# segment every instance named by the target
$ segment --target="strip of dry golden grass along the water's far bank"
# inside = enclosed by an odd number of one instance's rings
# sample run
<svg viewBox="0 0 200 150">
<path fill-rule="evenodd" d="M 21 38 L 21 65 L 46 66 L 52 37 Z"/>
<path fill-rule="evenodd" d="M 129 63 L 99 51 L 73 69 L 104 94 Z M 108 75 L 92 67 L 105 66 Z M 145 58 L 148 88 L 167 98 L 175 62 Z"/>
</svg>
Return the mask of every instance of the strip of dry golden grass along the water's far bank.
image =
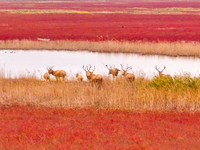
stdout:
<svg viewBox="0 0 200 150">
<path fill-rule="evenodd" d="M 46 40 L 46 41 L 45 41 Z M 199 42 L 127 42 L 127 41 L 48 41 L 8 40 L 0 41 L 0 49 L 23 50 L 87 50 L 93 52 L 122 52 L 139 54 L 156 54 L 168 56 L 200 57 Z"/>
</svg>

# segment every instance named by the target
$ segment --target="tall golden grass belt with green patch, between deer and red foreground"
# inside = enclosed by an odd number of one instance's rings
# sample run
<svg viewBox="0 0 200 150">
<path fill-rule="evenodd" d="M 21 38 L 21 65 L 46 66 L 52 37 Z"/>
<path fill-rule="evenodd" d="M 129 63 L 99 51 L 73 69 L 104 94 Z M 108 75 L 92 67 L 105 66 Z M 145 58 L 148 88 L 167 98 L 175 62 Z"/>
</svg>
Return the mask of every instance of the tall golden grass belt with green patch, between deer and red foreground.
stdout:
<svg viewBox="0 0 200 150">
<path fill-rule="evenodd" d="M 50 108 L 95 108 L 128 111 L 200 110 L 200 77 L 139 77 L 127 82 L 104 77 L 102 86 L 69 80 L 46 82 L 34 77 L 0 78 L 0 104 Z"/>
</svg>

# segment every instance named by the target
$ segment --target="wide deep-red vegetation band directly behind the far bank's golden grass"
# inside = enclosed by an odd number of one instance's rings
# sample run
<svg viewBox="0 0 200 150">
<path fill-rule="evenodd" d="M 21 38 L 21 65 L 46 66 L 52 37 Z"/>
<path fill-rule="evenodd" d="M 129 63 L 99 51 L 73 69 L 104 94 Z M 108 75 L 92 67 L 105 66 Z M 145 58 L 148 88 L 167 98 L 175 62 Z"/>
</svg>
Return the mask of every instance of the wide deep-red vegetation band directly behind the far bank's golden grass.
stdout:
<svg viewBox="0 0 200 150">
<path fill-rule="evenodd" d="M 198 15 L 0 14 L 0 40 L 199 41 Z"/>
</svg>

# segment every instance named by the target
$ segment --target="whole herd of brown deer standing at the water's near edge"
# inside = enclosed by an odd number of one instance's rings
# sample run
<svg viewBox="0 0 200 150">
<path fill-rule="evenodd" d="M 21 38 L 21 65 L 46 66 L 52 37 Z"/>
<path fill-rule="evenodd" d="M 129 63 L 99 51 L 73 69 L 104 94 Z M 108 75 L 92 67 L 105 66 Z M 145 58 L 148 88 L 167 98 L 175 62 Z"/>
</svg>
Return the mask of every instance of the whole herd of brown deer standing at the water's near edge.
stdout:
<svg viewBox="0 0 200 150">
<path fill-rule="evenodd" d="M 124 67 L 122 64 L 121 65 L 121 70 L 116 68 L 115 66 L 112 65 L 105 65 L 108 69 L 108 75 L 112 75 L 113 80 L 117 78 L 118 74 L 120 71 L 122 71 L 122 76 L 124 76 L 124 78 L 128 81 L 128 82 L 133 82 L 135 81 L 135 75 L 133 73 L 128 73 L 128 70 L 131 70 L 132 67 L 131 66 L 126 66 Z M 100 74 L 94 74 L 95 71 L 95 66 L 92 67 L 91 65 L 88 66 L 83 66 L 82 67 L 83 70 L 86 73 L 86 77 L 87 80 L 91 83 L 98 83 L 98 84 L 102 84 L 103 82 L 103 76 Z M 157 68 L 157 66 L 155 66 L 155 69 L 158 71 L 159 73 L 159 77 L 167 77 L 167 78 L 172 78 L 171 75 L 167 75 L 167 74 L 163 74 L 163 71 L 166 69 L 166 67 L 164 66 L 164 68 L 162 70 L 159 70 L 159 68 Z M 44 79 L 46 81 L 50 81 L 50 75 L 53 75 L 56 78 L 56 81 L 65 81 L 65 78 L 67 77 L 67 73 L 64 70 L 53 70 L 53 67 L 47 67 L 47 71 L 44 74 Z M 76 74 L 76 78 L 77 81 L 83 81 L 83 76 L 80 75 L 79 73 Z"/>
</svg>

